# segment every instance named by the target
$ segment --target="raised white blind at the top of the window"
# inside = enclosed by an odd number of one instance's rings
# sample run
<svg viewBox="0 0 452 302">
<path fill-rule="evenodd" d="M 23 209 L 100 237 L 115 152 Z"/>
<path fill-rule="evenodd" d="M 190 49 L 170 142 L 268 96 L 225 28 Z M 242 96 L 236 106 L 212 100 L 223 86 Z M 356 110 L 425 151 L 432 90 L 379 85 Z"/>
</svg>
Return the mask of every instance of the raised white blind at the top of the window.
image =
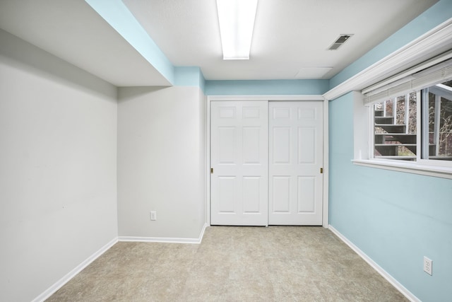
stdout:
<svg viewBox="0 0 452 302">
<path fill-rule="evenodd" d="M 430 66 L 427 69 L 415 72 L 384 86 L 376 87 L 373 90 L 369 90 L 369 88 L 364 89 L 362 91 L 364 94 L 363 102 L 364 105 L 369 106 L 450 79 L 452 79 L 452 59 Z"/>
</svg>

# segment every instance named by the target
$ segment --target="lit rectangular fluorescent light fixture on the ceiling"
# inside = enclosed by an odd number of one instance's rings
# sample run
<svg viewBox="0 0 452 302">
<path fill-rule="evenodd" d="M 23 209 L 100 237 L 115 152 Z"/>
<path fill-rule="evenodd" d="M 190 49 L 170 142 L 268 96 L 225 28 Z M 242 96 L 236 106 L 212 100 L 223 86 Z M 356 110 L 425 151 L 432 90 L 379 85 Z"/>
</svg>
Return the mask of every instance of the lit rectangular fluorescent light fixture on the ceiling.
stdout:
<svg viewBox="0 0 452 302">
<path fill-rule="evenodd" d="M 249 59 L 258 0 L 217 0 L 223 59 Z"/>
</svg>

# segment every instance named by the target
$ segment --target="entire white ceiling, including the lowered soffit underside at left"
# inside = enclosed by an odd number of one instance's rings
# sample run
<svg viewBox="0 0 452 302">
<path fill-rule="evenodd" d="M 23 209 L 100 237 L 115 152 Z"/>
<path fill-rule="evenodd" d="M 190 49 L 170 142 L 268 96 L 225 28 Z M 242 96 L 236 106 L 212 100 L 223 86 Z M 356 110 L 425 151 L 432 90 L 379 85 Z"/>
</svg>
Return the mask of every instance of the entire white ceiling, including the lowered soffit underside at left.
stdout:
<svg viewBox="0 0 452 302">
<path fill-rule="evenodd" d="M 174 66 L 207 80 L 331 79 L 436 0 L 259 0 L 251 59 L 223 61 L 215 0 L 123 0 Z M 116 86 L 169 81 L 83 0 L 0 0 L 0 28 Z M 327 48 L 353 34 L 339 50 Z"/>
</svg>

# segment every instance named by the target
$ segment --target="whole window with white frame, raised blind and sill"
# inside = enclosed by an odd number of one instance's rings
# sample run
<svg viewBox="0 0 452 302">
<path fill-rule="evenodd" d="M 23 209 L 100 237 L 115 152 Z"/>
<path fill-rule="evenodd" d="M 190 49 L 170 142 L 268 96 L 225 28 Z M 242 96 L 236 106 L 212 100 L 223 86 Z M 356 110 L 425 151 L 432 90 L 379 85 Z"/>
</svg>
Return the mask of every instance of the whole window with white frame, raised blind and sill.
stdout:
<svg viewBox="0 0 452 302">
<path fill-rule="evenodd" d="M 355 163 L 452 178 L 452 59 L 437 62 L 362 91 L 369 159 Z"/>
</svg>

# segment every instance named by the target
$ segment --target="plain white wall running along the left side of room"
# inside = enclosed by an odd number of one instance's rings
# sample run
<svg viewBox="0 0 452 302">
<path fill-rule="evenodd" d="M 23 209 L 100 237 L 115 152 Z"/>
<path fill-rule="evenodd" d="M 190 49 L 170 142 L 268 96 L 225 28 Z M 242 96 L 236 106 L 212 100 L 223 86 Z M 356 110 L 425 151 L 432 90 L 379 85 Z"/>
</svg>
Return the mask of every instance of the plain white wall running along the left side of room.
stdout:
<svg viewBox="0 0 452 302">
<path fill-rule="evenodd" d="M 117 88 L 0 30 L 0 301 L 117 237 Z"/>
</svg>

